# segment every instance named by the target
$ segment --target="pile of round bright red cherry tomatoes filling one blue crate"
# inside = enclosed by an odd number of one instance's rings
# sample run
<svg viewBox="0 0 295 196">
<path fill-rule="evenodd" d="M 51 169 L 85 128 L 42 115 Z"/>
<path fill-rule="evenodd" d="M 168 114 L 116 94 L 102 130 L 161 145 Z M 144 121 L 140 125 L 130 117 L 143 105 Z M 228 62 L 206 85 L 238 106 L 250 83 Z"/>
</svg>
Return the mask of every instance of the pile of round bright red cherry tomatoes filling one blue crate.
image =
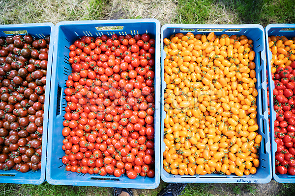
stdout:
<svg viewBox="0 0 295 196">
<path fill-rule="evenodd" d="M 154 176 L 154 45 L 148 34 L 113 34 L 69 47 L 66 171 Z"/>
</svg>

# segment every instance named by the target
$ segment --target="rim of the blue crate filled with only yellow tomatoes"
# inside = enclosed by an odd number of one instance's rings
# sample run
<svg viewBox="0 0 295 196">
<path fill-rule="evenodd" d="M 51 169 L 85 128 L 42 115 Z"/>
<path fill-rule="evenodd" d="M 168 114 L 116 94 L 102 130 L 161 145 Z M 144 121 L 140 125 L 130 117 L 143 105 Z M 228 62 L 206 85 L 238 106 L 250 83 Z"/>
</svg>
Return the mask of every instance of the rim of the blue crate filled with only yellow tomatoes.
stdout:
<svg viewBox="0 0 295 196">
<path fill-rule="evenodd" d="M 165 51 L 163 50 L 163 39 L 164 39 L 164 30 L 167 29 L 167 28 L 175 28 L 175 29 L 181 29 L 181 28 L 187 28 L 187 29 L 196 29 L 196 28 L 199 28 L 199 29 L 202 29 L 202 31 L 195 31 L 195 30 L 180 30 L 180 32 L 192 32 L 192 33 L 201 33 L 201 32 L 210 32 L 209 29 L 224 29 L 224 31 L 214 31 L 215 33 L 226 33 L 226 34 L 230 34 L 229 31 L 227 31 L 228 29 L 245 29 L 245 28 L 257 28 L 261 31 L 262 33 L 262 38 L 265 38 L 265 31 L 264 31 L 264 28 L 262 25 L 188 25 L 188 24 L 166 24 L 166 25 L 163 25 L 162 28 L 161 28 L 161 63 L 163 63 L 164 59 L 163 59 L 163 56 L 165 56 Z M 208 31 L 203 31 L 203 29 L 208 29 Z M 239 32 L 239 31 L 233 31 L 233 34 L 236 34 L 236 32 Z M 264 40 L 262 40 L 262 45 L 263 45 L 263 49 L 265 50 L 265 42 Z M 264 58 L 266 59 L 266 53 L 263 51 L 261 52 L 261 58 Z M 163 77 L 164 77 L 164 67 L 162 66 L 161 67 L 161 79 L 162 79 L 162 88 L 161 88 L 161 98 L 163 97 L 162 93 L 164 92 L 164 89 L 166 88 L 166 82 L 164 81 Z M 266 75 L 265 75 L 265 78 L 266 78 Z M 265 84 L 264 86 L 266 87 L 266 81 L 265 81 Z M 163 101 L 163 100 L 161 100 Z M 164 119 L 166 117 L 166 112 L 164 111 L 164 106 L 163 104 L 161 104 L 161 112 L 162 112 L 162 118 Z M 265 113 L 263 114 L 264 117 L 266 117 L 266 111 Z M 267 118 L 266 118 L 267 119 Z M 161 121 L 162 122 L 162 121 Z M 267 127 L 268 127 L 268 123 L 267 123 Z M 161 124 L 161 129 L 164 128 L 164 125 L 163 123 Z M 266 138 L 266 153 L 269 154 L 269 157 L 268 157 L 268 162 L 270 163 L 270 147 L 269 147 L 269 144 L 270 144 L 270 141 L 269 141 L 269 133 L 268 131 L 266 131 L 266 135 L 267 138 Z M 161 141 L 163 141 L 164 139 L 164 136 L 163 136 L 163 133 L 161 131 Z M 267 145 L 268 144 L 268 145 Z M 218 180 L 220 179 L 223 179 L 223 181 L 225 183 L 268 183 L 271 178 L 272 178 L 272 175 L 271 175 L 271 166 L 270 166 L 270 170 L 268 171 L 268 175 L 266 178 L 264 178 L 263 180 L 259 180 L 257 181 L 255 178 L 252 178 L 252 181 L 251 181 L 251 178 L 243 178 L 243 177 L 233 177 L 233 178 L 224 178 L 224 177 L 218 177 L 220 175 L 216 175 L 216 177 L 201 177 L 199 178 L 198 176 L 199 175 L 195 175 L 195 176 L 187 176 L 185 178 L 180 178 L 180 177 L 177 177 L 177 175 L 172 175 L 172 174 L 169 174 L 170 176 L 174 176 L 174 177 L 167 177 L 167 172 L 163 169 L 162 165 L 163 165 L 163 150 L 165 146 L 164 144 L 161 143 L 161 154 L 160 154 L 160 158 L 161 158 L 161 166 L 160 166 L 160 173 L 161 173 L 161 178 L 163 181 L 165 182 L 197 182 L 197 183 L 205 183 L 205 182 L 211 182 L 211 183 L 216 183 L 216 182 L 220 182 Z M 271 164 L 271 163 L 270 163 Z M 165 173 L 165 174 L 164 174 Z M 197 177 L 196 177 L 197 176 Z M 249 181 L 250 180 L 250 181 Z M 256 180 L 256 181 L 255 181 Z"/>
</svg>

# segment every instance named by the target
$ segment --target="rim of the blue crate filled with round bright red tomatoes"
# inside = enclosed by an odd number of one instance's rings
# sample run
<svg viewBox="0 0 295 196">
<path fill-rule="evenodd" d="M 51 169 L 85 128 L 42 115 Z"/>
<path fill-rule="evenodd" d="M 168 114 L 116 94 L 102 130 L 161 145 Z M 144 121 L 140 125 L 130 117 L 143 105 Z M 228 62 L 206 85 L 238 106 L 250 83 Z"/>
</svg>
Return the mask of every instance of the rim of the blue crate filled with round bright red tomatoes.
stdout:
<svg viewBox="0 0 295 196">
<path fill-rule="evenodd" d="M 156 55 L 155 57 L 155 72 L 156 71 L 159 71 L 160 70 L 160 55 L 159 55 L 159 52 L 160 52 L 160 23 L 158 20 L 156 19 L 130 19 L 130 20 L 105 20 L 105 21 L 75 21 L 75 22 L 60 22 L 56 25 L 56 33 L 55 33 L 55 43 L 54 43 L 54 47 L 56 48 L 56 50 L 54 50 L 54 57 L 56 58 L 58 56 L 58 46 L 59 46 L 59 29 L 62 25 L 97 25 L 97 26 L 104 26 L 104 24 L 109 24 L 110 26 L 112 26 L 112 24 L 114 24 L 113 26 L 116 26 L 118 24 L 121 24 L 121 25 L 128 25 L 128 24 L 134 24 L 134 23 L 154 23 L 155 24 L 155 40 L 156 40 L 156 53 L 158 53 L 158 55 Z M 116 25 L 115 25 L 116 24 Z M 106 31 L 113 31 L 113 30 L 106 30 Z M 119 30 L 121 31 L 121 29 Z M 78 35 L 77 35 L 78 36 Z M 54 62 L 53 62 L 53 69 L 55 69 L 57 67 L 57 63 L 58 63 L 58 59 L 54 59 Z M 159 73 L 159 72 L 158 72 Z M 54 70 L 53 73 L 52 73 L 52 85 L 51 85 L 51 90 L 54 90 L 56 91 L 56 88 L 57 88 L 57 71 Z M 155 75 L 155 81 L 157 82 L 160 82 L 160 75 L 158 75 L 156 77 Z M 156 90 L 157 89 L 157 90 Z M 52 93 L 51 97 L 54 96 L 55 93 Z M 155 94 L 159 94 L 158 96 L 160 96 L 160 89 L 159 87 L 156 87 L 155 86 Z M 156 95 L 155 95 L 156 96 Z M 51 122 L 53 121 L 53 113 L 54 113 L 54 109 L 52 107 L 52 105 L 54 104 L 54 101 L 51 101 L 50 103 L 50 118 L 49 118 L 49 133 L 48 133 L 48 148 L 47 148 L 47 155 L 48 157 L 51 157 L 52 155 L 52 151 L 51 151 L 51 148 L 53 147 L 53 143 L 52 143 L 52 137 L 53 137 L 53 132 L 51 131 L 52 129 L 52 124 Z M 157 106 L 157 103 L 155 103 L 155 106 Z M 158 106 L 160 108 L 160 106 Z M 160 115 L 160 114 L 159 114 Z M 155 120 L 156 121 L 156 120 Z M 159 122 L 160 124 L 160 122 Z M 159 125 L 160 126 L 160 125 Z M 156 127 L 155 128 L 155 138 L 157 137 L 158 141 L 160 142 L 160 131 L 158 131 L 156 133 Z M 158 143 L 159 143 L 158 142 Z M 160 147 L 160 143 L 158 144 L 158 146 Z M 158 156 L 160 155 L 159 152 L 156 152 L 155 150 L 155 163 L 159 162 L 159 157 L 156 156 L 156 154 L 158 154 Z M 158 163 L 159 164 L 159 163 Z M 129 188 L 144 188 L 144 189 L 153 189 L 153 188 L 156 188 L 159 183 L 160 183 L 160 168 L 158 168 L 158 174 L 156 173 L 156 164 L 155 164 L 155 183 L 153 184 L 147 184 L 147 185 L 143 185 L 142 187 L 140 187 L 140 185 L 132 185 L 130 182 L 127 183 L 127 182 L 122 182 L 122 181 L 115 181 L 113 182 L 114 183 L 117 183 L 116 185 L 112 185 L 112 182 L 110 181 L 107 181 L 107 180 L 102 180 L 102 181 L 99 181 L 99 180 L 96 180 L 96 182 L 91 182 L 89 183 L 89 181 L 87 181 L 87 183 L 79 183 L 79 182 L 75 182 L 75 181 L 71 181 L 71 180 L 55 180 L 53 178 L 51 178 L 51 166 L 52 165 L 52 161 L 50 158 L 48 158 L 47 160 L 47 170 L 46 170 L 46 180 L 50 183 L 50 184 L 59 184 L 59 185 L 78 185 L 78 186 L 117 186 L 117 187 L 129 187 Z M 95 176 L 95 175 L 90 175 L 88 174 L 90 177 L 91 176 Z M 104 178 L 104 176 L 100 176 L 100 178 Z M 109 177 L 109 176 L 108 176 Z M 111 177 L 111 178 L 117 178 L 117 177 Z M 117 178 L 118 179 L 118 178 Z M 136 181 L 136 179 L 135 179 Z M 102 184 L 104 183 L 104 184 Z"/>
</svg>

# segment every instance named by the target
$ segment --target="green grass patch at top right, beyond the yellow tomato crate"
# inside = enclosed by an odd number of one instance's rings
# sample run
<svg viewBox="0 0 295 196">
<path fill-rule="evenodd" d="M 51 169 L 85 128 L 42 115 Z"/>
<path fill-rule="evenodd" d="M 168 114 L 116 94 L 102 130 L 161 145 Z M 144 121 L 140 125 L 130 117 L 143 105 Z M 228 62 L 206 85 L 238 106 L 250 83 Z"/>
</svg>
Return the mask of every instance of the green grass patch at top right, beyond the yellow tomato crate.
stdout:
<svg viewBox="0 0 295 196">
<path fill-rule="evenodd" d="M 178 0 L 175 23 L 295 23 L 294 0 Z"/>
</svg>

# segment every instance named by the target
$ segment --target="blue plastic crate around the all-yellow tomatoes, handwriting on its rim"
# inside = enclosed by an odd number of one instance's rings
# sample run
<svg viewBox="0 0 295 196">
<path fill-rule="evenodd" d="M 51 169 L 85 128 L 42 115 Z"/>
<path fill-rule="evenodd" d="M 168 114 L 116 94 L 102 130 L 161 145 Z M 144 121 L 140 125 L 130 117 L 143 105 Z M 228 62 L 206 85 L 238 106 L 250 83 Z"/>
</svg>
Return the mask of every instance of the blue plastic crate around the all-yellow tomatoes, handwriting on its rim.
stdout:
<svg viewBox="0 0 295 196">
<path fill-rule="evenodd" d="M 211 30 L 212 29 L 212 30 Z M 257 169 L 255 174 L 242 177 L 232 175 L 220 175 L 220 174 L 206 174 L 206 175 L 173 175 L 169 174 L 163 169 L 163 152 L 165 151 L 165 143 L 163 131 L 161 132 L 161 178 L 165 182 L 188 182 L 188 183 L 268 183 L 271 180 L 271 165 L 270 165 L 270 141 L 268 131 L 268 115 L 267 115 L 267 91 L 266 91 L 266 54 L 265 54 L 265 33 L 261 25 L 163 25 L 161 30 L 161 46 L 162 55 L 161 63 L 164 64 L 165 51 L 163 49 L 163 39 L 169 38 L 176 33 L 186 34 L 192 32 L 193 34 L 208 34 L 213 31 L 215 35 L 245 35 L 248 39 L 253 40 L 254 51 L 256 57 L 254 62 L 256 64 L 256 89 L 258 91 L 257 100 L 257 123 L 259 125 L 258 133 L 263 136 L 261 147 L 259 148 L 259 161 L 260 168 Z M 166 117 L 164 111 L 164 90 L 166 88 L 166 82 L 164 81 L 164 66 L 161 67 L 161 111 L 162 120 Z M 164 129 L 164 124 L 161 124 L 161 130 Z"/>
</svg>

